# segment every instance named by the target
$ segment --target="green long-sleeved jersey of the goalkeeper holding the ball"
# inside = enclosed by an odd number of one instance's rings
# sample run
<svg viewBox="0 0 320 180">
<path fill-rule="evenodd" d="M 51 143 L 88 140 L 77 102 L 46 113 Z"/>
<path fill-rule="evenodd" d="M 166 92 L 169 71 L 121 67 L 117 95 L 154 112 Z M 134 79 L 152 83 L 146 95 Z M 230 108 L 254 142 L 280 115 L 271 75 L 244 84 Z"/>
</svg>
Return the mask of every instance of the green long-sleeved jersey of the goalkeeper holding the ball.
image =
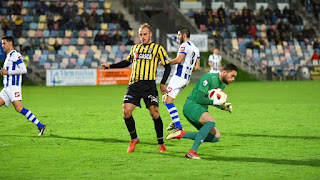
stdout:
<svg viewBox="0 0 320 180">
<path fill-rule="evenodd" d="M 224 89 L 225 87 L 226 84 L 219 79 L 219 73 L 207 73 L 197 81 L 188 99 L 208 109 L 208 105 L 213 104 L 213 100 L 207 97 L 208 91 L 215 88 Z"/>
</svg>

